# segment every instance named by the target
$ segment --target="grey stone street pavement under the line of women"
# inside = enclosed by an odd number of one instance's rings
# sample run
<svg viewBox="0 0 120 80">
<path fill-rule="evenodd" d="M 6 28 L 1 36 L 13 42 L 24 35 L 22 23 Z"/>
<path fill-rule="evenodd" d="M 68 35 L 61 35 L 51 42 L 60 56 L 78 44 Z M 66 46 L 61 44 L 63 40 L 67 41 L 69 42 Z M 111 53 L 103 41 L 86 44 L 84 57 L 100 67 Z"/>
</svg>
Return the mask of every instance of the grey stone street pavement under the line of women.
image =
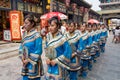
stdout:
<svg viewBox="0 0 120 80">
<path fill-rule="evenodd" d="M 17 51 L 14 53 L 18 54 Z M 45 57 L 42 55 L 45 65 Z M 88 72 L 87 78 L 81 80 L 120 80 L 120 43 L 112 43 L 110 35 L 105 53 L 93 64 L 92 71 Z M 0 60 L 0 80 L 21 80 L 21 61 L 18 56 Z M 46 72 L 46 65 L 45 65 Z M 44 80 L 42 78 L 42 80 Z"/>
</svg>

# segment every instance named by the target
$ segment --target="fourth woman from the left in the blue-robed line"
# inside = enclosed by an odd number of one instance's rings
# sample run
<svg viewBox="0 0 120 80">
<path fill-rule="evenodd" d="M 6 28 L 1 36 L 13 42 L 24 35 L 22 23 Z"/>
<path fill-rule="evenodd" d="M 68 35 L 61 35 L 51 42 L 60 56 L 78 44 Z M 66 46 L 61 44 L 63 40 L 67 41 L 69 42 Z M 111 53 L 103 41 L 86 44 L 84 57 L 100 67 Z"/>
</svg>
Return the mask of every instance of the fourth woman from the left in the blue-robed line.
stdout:
<svg viewBox="0 0 120 80">
<path fill-rule="evenodd" d="M 90 54 L 88 53 L 86 46 L 88 42 L 88 32 L 86 31 L 86 24 L 81 26 L 81 38 L 79 49 L 81 51 L 81 66 L 82 66 L 82 77 L 87 77 L 87 68 L 89 64 Z"/>
</svg>

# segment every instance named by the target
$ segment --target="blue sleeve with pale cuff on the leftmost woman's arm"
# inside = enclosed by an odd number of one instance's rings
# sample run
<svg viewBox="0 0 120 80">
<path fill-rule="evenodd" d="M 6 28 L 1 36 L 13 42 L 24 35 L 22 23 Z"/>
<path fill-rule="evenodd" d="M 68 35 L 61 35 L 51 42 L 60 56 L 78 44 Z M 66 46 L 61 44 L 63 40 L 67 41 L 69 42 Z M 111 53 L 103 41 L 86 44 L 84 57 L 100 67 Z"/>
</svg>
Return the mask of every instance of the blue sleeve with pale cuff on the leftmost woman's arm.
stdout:
<svg viewBox="0 0 120 80">
<path fill-rule="evenodd" d="M 42 54 L 42 38 L 40 37 L 39 33 L 35 36 L 35 49 L 33 53 L 30 53 L 30 59 L 32 61 L 38 61 L 40 55 Z"/>
</svg>

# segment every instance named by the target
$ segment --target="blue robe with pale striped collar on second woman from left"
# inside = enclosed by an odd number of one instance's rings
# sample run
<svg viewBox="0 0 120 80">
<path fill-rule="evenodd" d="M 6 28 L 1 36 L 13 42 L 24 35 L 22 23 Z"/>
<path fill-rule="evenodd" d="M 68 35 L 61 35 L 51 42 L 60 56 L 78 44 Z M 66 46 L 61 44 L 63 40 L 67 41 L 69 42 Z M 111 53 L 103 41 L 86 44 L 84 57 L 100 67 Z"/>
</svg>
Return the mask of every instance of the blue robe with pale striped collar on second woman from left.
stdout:
<svg viewBox="0 0 120 80">
<path fill-rule="evenodd" d="M 51 33 L 47 34 L 46 57 L 56 62 L 54 66 L 48 65 L 47 80 L 63 80 L 63 69 L 68 69 L 64 63 L 70 62 L 71 54 L 71 47 L 65 36 L 61 33 L 57 33 L 54 37 Z"/>
</svg>

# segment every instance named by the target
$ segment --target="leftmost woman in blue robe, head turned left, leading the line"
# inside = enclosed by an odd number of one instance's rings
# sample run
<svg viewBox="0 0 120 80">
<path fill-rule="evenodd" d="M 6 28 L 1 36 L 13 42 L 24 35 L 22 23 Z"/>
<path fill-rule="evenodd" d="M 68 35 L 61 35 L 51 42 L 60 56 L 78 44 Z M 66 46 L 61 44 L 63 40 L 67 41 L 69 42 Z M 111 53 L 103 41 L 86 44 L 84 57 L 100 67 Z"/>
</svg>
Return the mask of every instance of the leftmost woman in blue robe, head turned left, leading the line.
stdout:
<svg viewBox="0 0 120 80">
<path fill-rule="evenodd" d="M 24 19 L 24 29 L 26 34 L 23 36 L 19 48 L 20 58 L 22 60 L 22 80 L 40 80 L 43 75 L 43 66 L 41 60 L 42 38 L 35 28 L 36 23 L 32 14 Z"/>
</svg>

